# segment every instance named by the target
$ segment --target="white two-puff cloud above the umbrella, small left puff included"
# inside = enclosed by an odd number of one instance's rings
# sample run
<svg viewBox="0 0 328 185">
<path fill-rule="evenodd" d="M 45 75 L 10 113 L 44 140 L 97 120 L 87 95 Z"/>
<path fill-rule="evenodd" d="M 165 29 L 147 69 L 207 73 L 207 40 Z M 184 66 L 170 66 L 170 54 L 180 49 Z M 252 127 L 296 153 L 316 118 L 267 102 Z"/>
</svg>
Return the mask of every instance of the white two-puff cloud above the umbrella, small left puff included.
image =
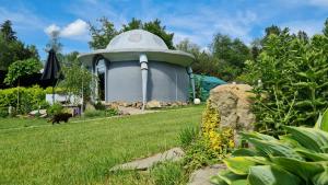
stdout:
<svg viewBox="0 0 328 185">
<path fill-rule="evenodd" d="M 85 21 L 78 19 L 74 22 L 59 27 L 56 24 L 51 24 L 47 26 L 44 31 L 47 35 L 51 35 L 54 32 L 59 32 L 59 36 L 70 39 L 80 39 L 87 41 L 89 39 L 89 25 Z"/>
</svg>

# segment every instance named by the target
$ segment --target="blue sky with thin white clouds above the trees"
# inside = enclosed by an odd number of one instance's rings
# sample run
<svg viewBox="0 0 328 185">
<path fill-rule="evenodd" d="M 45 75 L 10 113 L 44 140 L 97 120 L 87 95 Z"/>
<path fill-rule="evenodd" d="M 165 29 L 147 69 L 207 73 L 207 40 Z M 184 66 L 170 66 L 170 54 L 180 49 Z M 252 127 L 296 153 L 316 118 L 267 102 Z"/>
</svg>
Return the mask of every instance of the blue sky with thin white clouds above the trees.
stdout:
<svg viewBox="0 0 328 185">
<path fill-rule="evenodd" d="M 11 20 L 17 37 L 36 45 L 42 59 L 49 32 L 60 32 L 62 53 L 87 53 L 89 23 L 106 16 L 116 28 L 132 18 L 160 19 L 174 43 L 188 38 L 207 49 L 216 33 L 246 44 L 274 24 L 320 33 L 328 18 L 328 0 L 0 0 L 0 23 Z"/>
</svg>

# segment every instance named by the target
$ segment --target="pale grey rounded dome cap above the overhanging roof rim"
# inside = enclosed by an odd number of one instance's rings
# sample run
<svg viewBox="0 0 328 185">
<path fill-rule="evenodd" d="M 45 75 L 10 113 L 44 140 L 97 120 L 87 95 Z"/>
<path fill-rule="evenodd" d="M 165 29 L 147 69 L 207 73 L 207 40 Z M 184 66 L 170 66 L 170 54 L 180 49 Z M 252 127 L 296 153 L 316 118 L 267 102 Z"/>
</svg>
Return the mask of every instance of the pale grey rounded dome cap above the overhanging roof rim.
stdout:
<svg viewBox="0 0 328 185">
<path fill-rule="evenodd" d="M 164 41 L 150 32 L 132 30 L 115 36 L 106 47 L 107 50 L 121 49 L 168 49 Z"/>
</svg>

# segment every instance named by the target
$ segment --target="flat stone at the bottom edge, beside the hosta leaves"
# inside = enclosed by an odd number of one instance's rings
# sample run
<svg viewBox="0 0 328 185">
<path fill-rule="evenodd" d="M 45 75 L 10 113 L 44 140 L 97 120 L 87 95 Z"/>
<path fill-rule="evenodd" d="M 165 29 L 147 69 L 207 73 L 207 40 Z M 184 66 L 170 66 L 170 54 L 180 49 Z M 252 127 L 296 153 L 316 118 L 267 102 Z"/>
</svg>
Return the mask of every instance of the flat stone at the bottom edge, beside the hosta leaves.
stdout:
<svg viewBox="0 0 328 185">
<path fill-rule="evenodd" d="M 187 185 L 212 185 L 211 177 L 216 175 L 220 170 L 225 170 L 224 164 L 214 164 L 203 169 L 199 169 L 191 173 L 189 183 Z"/>
</svg>

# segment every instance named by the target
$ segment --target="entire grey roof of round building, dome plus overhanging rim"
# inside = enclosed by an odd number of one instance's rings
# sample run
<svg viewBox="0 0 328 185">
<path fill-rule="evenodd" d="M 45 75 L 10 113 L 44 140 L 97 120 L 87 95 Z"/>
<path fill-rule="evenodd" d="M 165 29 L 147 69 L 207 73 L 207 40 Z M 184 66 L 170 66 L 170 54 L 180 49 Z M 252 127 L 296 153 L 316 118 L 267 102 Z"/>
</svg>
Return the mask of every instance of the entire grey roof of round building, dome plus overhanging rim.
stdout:
<svg viewBox="0 0 328 185">
<path fill-rule="evenodd" d="M 96 56 L 103 56 L 110 62 L 139 60 L 145 54 L 149 60 L 163 61 L 184 67 L 190 66 L 195 57 L 181 50 L 171 50 L 159 36 L 143 31 L 132 30 L 115 36 L 105 49 L 93 50 L 78 56 L 82 63 L 92 65 Z"/>
</svg>

